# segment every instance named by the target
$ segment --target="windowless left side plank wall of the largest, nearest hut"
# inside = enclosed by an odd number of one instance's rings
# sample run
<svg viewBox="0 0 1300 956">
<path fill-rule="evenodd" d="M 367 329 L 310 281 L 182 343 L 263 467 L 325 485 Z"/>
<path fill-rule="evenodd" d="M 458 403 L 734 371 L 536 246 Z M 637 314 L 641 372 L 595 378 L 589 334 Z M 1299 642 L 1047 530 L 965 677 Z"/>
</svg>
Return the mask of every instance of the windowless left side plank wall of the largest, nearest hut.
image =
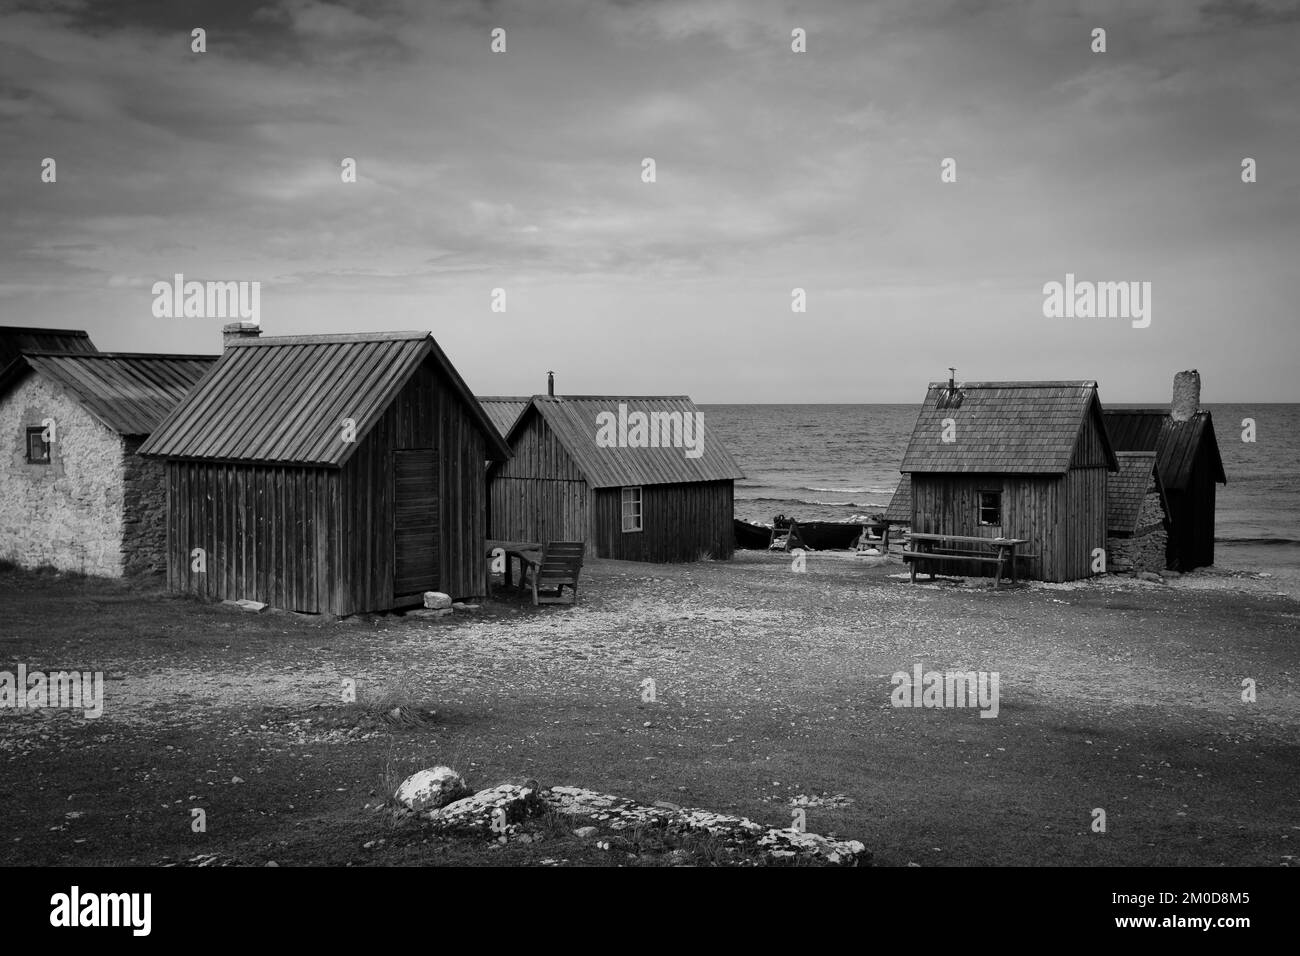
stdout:
<svg viewBox="0 0 1300 956">
<path fill-rule="evenodd" d="M 321 468 L 168 462 L 168 585 L 218 601 L 332 610 L 338 473 Z M 195 548 L 207 572 L 192 570 Z"/>
</svg>

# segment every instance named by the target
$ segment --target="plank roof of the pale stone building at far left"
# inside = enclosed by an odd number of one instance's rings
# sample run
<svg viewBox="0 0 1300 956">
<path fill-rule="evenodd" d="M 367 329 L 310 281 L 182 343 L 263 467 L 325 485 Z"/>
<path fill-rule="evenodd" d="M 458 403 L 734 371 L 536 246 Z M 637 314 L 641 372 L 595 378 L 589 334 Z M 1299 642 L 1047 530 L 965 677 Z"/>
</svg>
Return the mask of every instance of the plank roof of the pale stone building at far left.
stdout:
<svg viewBox="0 0 1300 956">
<path fill-rule="evenodd" d="M 35 373 L 118 434 L 150 434 L 216 360 L 216 355 L 22 352 L 0 373 L 0 395 Z"/>
</svg>

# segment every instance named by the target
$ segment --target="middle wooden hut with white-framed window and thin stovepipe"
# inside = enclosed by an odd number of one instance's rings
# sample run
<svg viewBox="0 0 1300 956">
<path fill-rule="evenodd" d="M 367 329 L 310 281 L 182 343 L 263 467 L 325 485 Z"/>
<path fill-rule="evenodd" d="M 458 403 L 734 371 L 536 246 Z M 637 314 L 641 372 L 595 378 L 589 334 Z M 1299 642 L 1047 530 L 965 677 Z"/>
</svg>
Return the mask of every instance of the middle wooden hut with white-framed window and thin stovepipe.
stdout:
<svg viewBox="0 0 1300 956">
<path fill-rule="evenodd" d="M 506 437 L 510 460 L 488 472 L 491 537 L 585 541 L 625 561 L 731 558 L 744 475 L 702 423 L 685 395 L 534 395 Z"/>
</svg>

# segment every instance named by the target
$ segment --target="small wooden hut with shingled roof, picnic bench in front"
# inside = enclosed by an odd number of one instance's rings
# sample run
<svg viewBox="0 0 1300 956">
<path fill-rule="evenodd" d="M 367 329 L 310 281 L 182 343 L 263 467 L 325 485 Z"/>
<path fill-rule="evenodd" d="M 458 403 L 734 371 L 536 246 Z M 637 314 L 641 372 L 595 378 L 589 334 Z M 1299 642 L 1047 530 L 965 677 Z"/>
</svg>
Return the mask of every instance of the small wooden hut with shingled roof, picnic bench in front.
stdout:
<svg viewBox="0 0 1300 956">
<path fill-rule="evenodd" d="M 933 382 L 900 467 L 913 533 L 1026 538 L 1046 581 L 1092 574 L 1117 470 L 1095 381 Z"/>
</svg>

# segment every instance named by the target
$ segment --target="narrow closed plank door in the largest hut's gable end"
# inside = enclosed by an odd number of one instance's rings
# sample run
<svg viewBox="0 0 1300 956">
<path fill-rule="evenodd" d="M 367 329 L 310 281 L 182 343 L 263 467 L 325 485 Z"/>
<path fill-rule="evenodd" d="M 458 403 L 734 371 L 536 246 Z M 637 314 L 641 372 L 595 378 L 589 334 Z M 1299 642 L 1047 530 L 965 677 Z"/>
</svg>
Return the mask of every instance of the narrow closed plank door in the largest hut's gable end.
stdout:
<svg viewBox="0 0 1300 956">
<path fill-rule="evenodd" d="M 433 449 L 393 457 L 393 596 L 437 591 L 438 457 Z"/>
</svg>

